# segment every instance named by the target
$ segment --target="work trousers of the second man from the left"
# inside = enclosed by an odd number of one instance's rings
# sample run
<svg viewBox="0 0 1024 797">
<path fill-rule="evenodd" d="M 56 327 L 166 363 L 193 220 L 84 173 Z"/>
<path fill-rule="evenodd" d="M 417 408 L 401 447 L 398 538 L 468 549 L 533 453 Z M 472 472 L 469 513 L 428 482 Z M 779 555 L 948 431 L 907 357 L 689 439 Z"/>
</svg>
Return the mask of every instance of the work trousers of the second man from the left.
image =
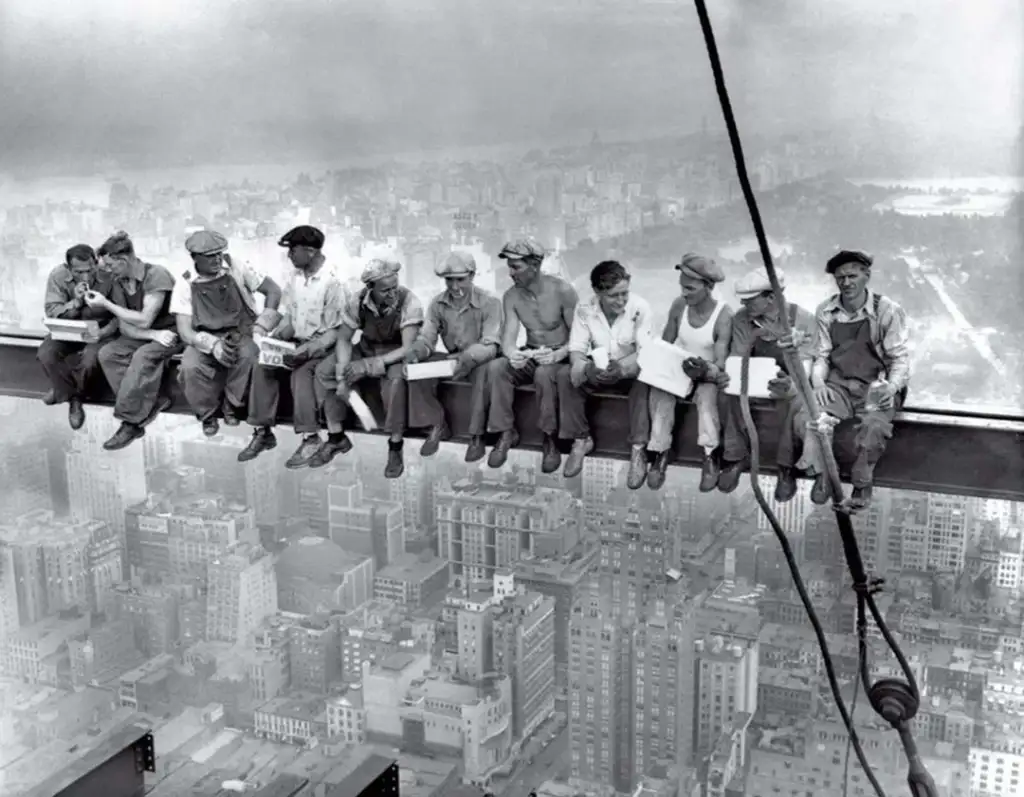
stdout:
<svg viewBox="0 0 1024 797">
<path fill-rule="evenodd" d="M 105 343 L 99 349 L 99 367 L 117 396 L 114 417 L 136 426 L 150 420 L 165 386 L 171 358 L 183 348 L 180 341 L 164 346 L 155 340 L 124 336 Z"/>
</svg>

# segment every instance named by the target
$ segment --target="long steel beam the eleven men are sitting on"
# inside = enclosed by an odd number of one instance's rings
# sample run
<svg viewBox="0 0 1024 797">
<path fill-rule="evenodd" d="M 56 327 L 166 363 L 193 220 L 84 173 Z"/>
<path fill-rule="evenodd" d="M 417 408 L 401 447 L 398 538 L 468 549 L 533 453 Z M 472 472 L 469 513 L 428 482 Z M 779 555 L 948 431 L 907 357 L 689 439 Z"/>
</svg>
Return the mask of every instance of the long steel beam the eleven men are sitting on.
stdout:
<svg viewBox="0 0 1024 797">
<path fill-rule="evenodd" d="M 38 341 L 0 340 L 0 394 L 40 399 L 48 389 L 46 376 L 36 361 Z M 176 366 L 170 377 L 174 395 L 173 413 L 190 414 L 176 378 Z M 378 417 L 383 411 L 373 391 L 365 395 Z M 443 382 L 439 387 L 441 403 L 447 413 L 453 442 L 467 443 L 469 436 L 469 395 L 467 383 Z M 90 400 L 91 404 L 111 405 L 109 390 Z M 761 467 L 775 471 L 778 445 L 778 420 L 768 407 L 753 409 L 761 438 Z M 629 416 L 627 400 L 622 395 L 600 393 L 591 399 L 591 428 L 594 436 L 592 456 L 626 459 Z M 56 410 L 54 410 L 56 413 Z M 543 442 L 538 428 L 537 406 L 531 388 L 516 391 L 515 412 L 520 447 L 539 450 Z M 674 464 L 698 467 L 702 451 L 696 445 L 696 413 L 692 405 L 681 402 L 679 423 L 673 446 Z M 282 390 L 281 423 L 288 424 L 291 396 Z M 356 422 L 350 424 L 358 430 Z M 841 469 L 847 477 L 853 430 L 843 424 L 837 431 Z M 410 436 L 419 436 L 410 432 Z M 568 442 L 562 446 L 567 451 Z M 895 431 L 882 462 L 876 469 L 879 487 L 920 490 L 934 493 L 971 495 L 984 498 L 1024 500 L 1024 420 L 946 412 L 906 411 L 897 416 Z"/>
</svg>

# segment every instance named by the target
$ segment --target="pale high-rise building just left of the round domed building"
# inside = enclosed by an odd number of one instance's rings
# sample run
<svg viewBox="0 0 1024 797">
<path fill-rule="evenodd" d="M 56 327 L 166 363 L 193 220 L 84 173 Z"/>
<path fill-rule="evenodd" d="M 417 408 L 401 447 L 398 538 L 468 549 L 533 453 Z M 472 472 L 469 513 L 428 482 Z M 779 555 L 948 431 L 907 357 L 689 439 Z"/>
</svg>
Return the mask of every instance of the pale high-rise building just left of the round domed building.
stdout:
<svg viewBox="0 0 1024 797">
<path fill-rule="evenodd" d="M 207 638 L 244 641 L 278 611 L 273 557 L 262 546 L 238 543 L 209 563 Z"/>
</svg>

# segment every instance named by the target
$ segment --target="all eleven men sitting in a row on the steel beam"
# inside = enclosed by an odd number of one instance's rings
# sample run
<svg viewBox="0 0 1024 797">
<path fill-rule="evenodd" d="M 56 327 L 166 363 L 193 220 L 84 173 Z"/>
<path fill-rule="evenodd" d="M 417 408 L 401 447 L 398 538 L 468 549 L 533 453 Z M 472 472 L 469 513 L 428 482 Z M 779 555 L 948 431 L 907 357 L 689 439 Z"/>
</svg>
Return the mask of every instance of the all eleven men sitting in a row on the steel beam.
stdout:
<svg viewBox="0 0 1024 797">
<path fill-rule="evenodd" d="M 499 300 L 473 285 L 472 256 L 453 252 L 435 269 L 446 288 L 424 312 L 415 294 L 400 285 L 398 263 L 372 260 L 361 274 L 362 288 L 349 290 L 327 265 L 324 242 L 324 234 L 308 225 L 281 239 L 295 268 L 284 290 L 252 267 L 234 263 L 227 241 L 215 232 L 189 236 L 185 247 L 195 274 L 177 282 L 166 268 L 140 260 L 124 233 L 98 250 L 102 267 L 89 247 L 73 247 L 67 263 L 50 275 L 46 314 L 104 323 L 98 337 L 84 345 L 47 338 L 40 346 L 39 359 L 53 386 L 46 403 L 69 402 L 71 425 L 79 428 L 89 380 L 101 371 L 116 393 L 114 415 L 122 422 L 103 447 L 122 449 L 169 408 L 167 365 L 183 352 L 179 377 L 205 433 L 218 432 L 218 418 L 238 425 L 246 416 L 255 427 L 239 454 L 245 462 L 276 447 L 280 380 L 289 374 L 259 365 L 254 339 L 293 341 L 298 346 L 286 365 L 291 369 L 294 428 L 303 439 L 286 466 L 322 467 L 351 449 L 343 427 L 347 399 L 354 385 L 367 380 L 380 390 L 385 408 L 383 428 L 390 438 L 385 475 L 394 478 L 403 471 L 407 428 L 429 429 L 423 456 L 434 454 L 450 436 L 437 380 L 407 381 L 403 366 L 449 359 L 456 361 L 454 379 L 472 384 L 467 462 L 484 457 L 489 433 L 498 439 L 488 465 L 504 465 L 519 442 L 514 390 L 532 383 L 544 433 L 542 468 L 557 471 L 557 441 L 571 439 L 564 475 L 574 476 L 594 449 L 588 394 L 625 392 L 628 486 L 636 490 L 646 481 L 656 490 L 664 484 L 679 400 L 637 380 L 639 348 L 653 334 L 651 309 L 631 291 L 630 275 L 620 263 L 609 260 L 594 267 L 594 297 L 580 304 L 570 284 L 542 272 L 544 250 L 531 241 L 517 241 L 499 254 L 513 282 Z M 794 496 L 797 471 L 816 476 L 815 502 L 824 503 L 828 495 L 808 414 L 784 362 L 790 349 L 799 353 L 827 417 L 860 420 L 853 501 L 870 500 L 874 465 L 892 434 L 909 377 L 905 313 L 892 299 L 868 289 L 870 268 L 871 258 L 860 252 L 833 257 L 825 270 L 839 293 L 816 314 L 790 304 L 794 332 L 786 335 L 763 267 L 737 282 L 742 307 L 733 312 L 714 296 L 724 276 L 713 259 L 687 254 L 675 265 L 680 295 L 662 338 L 693 355 L 684 371 L 696 383 L 697 444 L 705 452 L 701 491 L 717 487 L 731 492 L 750 465 L 738 397 L 723 388 L 728 384 L 726 359 L 740 355 L 754 336 L 752 355 L 772 358 L 779 367 L 771 384 L 781 424 L 776 499 Z M 256 293 L 264 296 L 262 311 L 257 310 Z M 520 329 L 526 338 L 522 348 Z M 353 342 L 356 332 L 360 335 Z M 438 338 L 445 353 L 436 351 Z M 590 356 L 597 348 L 609 355 L 606 368 Z M 867 406 L 868 387 L 880 377 L 885 380 L 881 394 Z M 326 439 L 321 437 L 322 419 Z"/>
</svg>

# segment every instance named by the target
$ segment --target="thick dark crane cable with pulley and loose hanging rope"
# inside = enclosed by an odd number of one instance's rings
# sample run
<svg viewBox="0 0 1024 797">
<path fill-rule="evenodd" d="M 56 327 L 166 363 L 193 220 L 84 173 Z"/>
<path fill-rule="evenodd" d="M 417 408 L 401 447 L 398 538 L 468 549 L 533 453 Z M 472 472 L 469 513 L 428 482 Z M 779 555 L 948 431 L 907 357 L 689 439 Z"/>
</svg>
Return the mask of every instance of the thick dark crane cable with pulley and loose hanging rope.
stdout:
<svg viewBox="0 0 1024 797">
<path fill-rule="evenodd" d="M 729 99 L 729 92 L 725 84 L 725 76 L 718 52 L 718 45 L 715 41 L 714 28 L 712 27 L 711 17 L 708 13 L 706 0 L 694 0 L 694 5 L 696 6 L 697 16 L 700 20 L 700 30 L 703 34 L 705 45 L 708 48 L 708 56 L 711 60 L 712 74 L 715 79 L 715 89 L 718 94 L 719 102 L 722 107 L 722 115 L 728 131 L 729 144 L 732 150 L 732 156 L 736 166 L 736 175 L 739 179 L 739 185 L 743 193 L 743 200 L 746 203 L 746 207 L 751 215 L 751 221 L 754 224 L 754 233 L 758 241 L 758 248 L 760 250 L 762 260 L 764 261 L 765 269 L 768 272 L 768 279 L 771 283 L 782 334 L 792 341 L 793 327 L 790 324 L 788 313 L 786 312 L 785 306 L 785 298 L 782 295 L 782 288 L 778 282 L 778 276 L 775 272 L 775 265 L 772 260 L 771 250 L 768 246 L 768 237 L 765 233 L 764 223 L 761 219 L 761 213 L 758 209 L 757 199 L 754 196 L 754 188 L 751 185 L 750 176 L 746 172 L 746 162 L 743 157 L 742 143 L 739 138 L 739 130 L 736 127 L 736 120 L 732 113 L 732 103 Z M 761 486 L 758 480 L 760 441 L 758 438 L 757 428 L 754 425 L 754 419 L 751 415 L 748 384 L 750 358 L 751 351 L 753 350 L 754 340 L 756 340 L 756 337 L 752 338 L 752 341 L 748 344 L 742 354 L 740 376 L 741 386 L 739 396 L 743 423 L 746 426 L 748 433 L 751 438 L 751 487 L 754 490 L 754 495 L 757 499 L 758 505 L 767 516 L 772 530 L 775 532 L 775 535 L 779 540 L 779 545 L 781 546 L 783 555 L 790 565 L 790 571 L 793 575 L 794 583 L 797 586 L 797 591 L 804 603 L 804 607 L 807 610 L 811 625 L 814 626 L 815 635 L 818 638 L 818 644 L 821 647 L 822 657 L 825 661 L 825 672 L 828 675 L 829 687 L 831 688 L 833 695 L 836 699 L 837 709 L 843 718 L 847 732 L 850 735 L 850 742 L 853 745 L 857 758 L 860 761 L 865 774 L 870 781 L 871 786 L 874 788 L 879 797 L 885 797 L 881 784 L 878 782 L 878 779 L 874 777 L 874 773 L 871 771 L 870 766 L 867 763 L 860 741 L 857 738 L 856 729 L 853 725 L 853 719 L 846 708 L 845 702 L 843 701 L 842 694 L 839 689 L 839 682 L 836 679 L 831 657 L 828 654 L 824 631 L 821 629 L 821 624 L 817 619 L 817 613 L 814 611 L 814 606 L 810 601 L 809 595 L 807 594 L 803 578 L 800 575 L 799 565 L 793 555 L 793 550 L 790 546 L 788 540 L 785 537 L 785 532 L 782 530 L 778 522 L 778 518 L 775 517 L 774 512 L 772 512 L 771 507 L 765 500 L 764 494 L 761 492 Z M 808 417 L 812 419 L 811 422 L 814 424 L 812 428 L 815 439 L 820 448 L 825 474 L 828 478 L 828 485 L 834 500 L 833 509 L 836 513 L 837 525 L 839 526 L 840 538 L 843 543 L 843 551 L 846 556 L 847 568 L 850 571 L 850 576 L 853 580 L 853 589 L 857 595 L 856 619 L 858 628 L 858 660 L 861 665 L 860 675 L 863 680 L 864 691 L 867 695 L 874 711 L 887 722 L 889 722 L 889 724 L 892 725 L 892 727 L 900 735 L 900 740 L 903 744 L 904 751 L 906 752 L 907 760 L 909 761 L 907 782 L 910 786 L 911 795 L 913 797 L 938 797 L 935 783 L 932 781 L 928 770 L 921 761 L 921 757 L 918 754 L 916 746 L 913 742 L 913 737 L 909 727 L 910 720 L 916 713 L 921 703 L 916 679 L 914 678 L 913 671 L 910 669 L 909 662 L 906 660 L 906 656 L 900 649 L 899 644 L 890 631 L 885 618 L 882 616 L 882 613 L 876 603 L 873 593 L 878 591 L 882 582 L 868 582 L 867 573 L 864 569 L 864 562 L 860 555 L 860 548 L 857 544 L 857 538 L 854 533 L 853 522 L 850 519 L 849 510 L 842 506 L 844 500 L 843 484 L 840 479 L 839 467 L 833 453 L 831 437 L 829 434 L 826 434 L 817 423 L 820 409 L 817 401 L 815 400 L 814 391 L 811 389 L 811 383 L 806 371 L 804 370 L 803 364 L 796 356 L 792 348 L 787 348 L 783 352 L 783 359 L 790 377 L 796 383 L 799 401 L 801 401 L 807 409 Z M 868 612 L 874 620 L 876 625 L 879 627 L 886 644 L 899 661 L 900 668 L 906 678 L 905 681 L 889 678 L 878 681 L 877 683 L 871 683 L 867 662 L 866 639 Z"/>
</svg>

